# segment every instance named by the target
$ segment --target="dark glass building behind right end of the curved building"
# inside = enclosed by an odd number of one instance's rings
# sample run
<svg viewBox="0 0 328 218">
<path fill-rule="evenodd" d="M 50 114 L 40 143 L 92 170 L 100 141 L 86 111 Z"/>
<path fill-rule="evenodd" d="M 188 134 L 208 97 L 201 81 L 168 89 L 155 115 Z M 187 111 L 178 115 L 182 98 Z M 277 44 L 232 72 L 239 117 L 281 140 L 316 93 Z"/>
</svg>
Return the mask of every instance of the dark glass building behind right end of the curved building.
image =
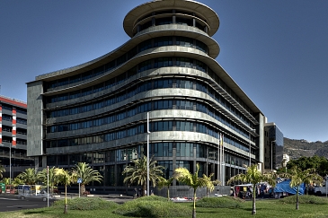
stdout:
<svg viewBox="0 0 328 218">
<path fill-rule="evenodd" d="M 284 135 L 275 123 L 266 123 L 264 133 L 264 169 L 277 170 L 282 167 Z"/>
</svg>

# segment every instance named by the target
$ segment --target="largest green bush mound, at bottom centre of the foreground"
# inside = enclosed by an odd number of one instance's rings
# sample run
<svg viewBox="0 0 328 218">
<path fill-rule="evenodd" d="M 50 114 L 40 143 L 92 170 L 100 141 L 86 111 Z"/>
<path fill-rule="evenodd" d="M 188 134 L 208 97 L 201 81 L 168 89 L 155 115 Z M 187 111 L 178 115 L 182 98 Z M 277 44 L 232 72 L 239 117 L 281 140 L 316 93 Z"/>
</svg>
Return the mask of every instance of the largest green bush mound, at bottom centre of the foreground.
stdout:
<svg viewBox="0 0 328 218">
<path fill-rule="evenodd" d="M 186 217 L 191 216 L 191 211 L 190 205 L 173 203 L 162 196 L 143 196 L 124 203 L 113 213 L 133 217 Z"/>
</svg>

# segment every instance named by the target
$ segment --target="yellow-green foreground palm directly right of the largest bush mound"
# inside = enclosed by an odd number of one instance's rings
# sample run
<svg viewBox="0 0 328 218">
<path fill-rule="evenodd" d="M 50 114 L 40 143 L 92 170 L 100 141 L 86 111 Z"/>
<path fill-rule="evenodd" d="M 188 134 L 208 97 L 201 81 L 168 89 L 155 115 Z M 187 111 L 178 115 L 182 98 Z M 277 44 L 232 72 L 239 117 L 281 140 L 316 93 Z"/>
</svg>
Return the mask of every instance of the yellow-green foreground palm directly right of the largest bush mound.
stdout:
<svg viewBox="0 0 328 218">
<path fill-rule="evenodd" d="M 193 188 L 193 211 L 192 217 L 196 218 L 196 190 L 198 187 L 207 187 L 210 191 L 214 190 L 214 185 L 210 178 L 213 173 L 209 176 L 203 175 L 202 178 L 199 177 L 199 163 L 196 165 L 196 172 L 191 174 L 191 172 L 185 168 L 177 168 L 174 170 L 173 178 L 177 179 L 179 182 L 186 184 Z"/>
</svg>

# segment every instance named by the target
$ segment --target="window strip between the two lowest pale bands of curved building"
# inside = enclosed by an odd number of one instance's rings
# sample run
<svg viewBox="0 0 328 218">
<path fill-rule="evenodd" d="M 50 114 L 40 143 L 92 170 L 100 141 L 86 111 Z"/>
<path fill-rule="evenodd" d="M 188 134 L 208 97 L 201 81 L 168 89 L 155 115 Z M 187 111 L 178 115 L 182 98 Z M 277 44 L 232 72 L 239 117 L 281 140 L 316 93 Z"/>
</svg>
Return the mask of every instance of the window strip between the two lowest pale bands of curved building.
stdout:
<svg viewBox="0 0 328 218">
<path fill-rule="evenodd" d="M 205 125 L 203 123 L 197 123 L 191 121 L 157 121 L 157 122 L 151 122 L 149 127 L 151 132 L 189 131 L 189 132 L 203 133 L 217 138 L 216 128 Z M 133 135 L 144 134 L 146 133 L 146 131 L 147 131 L 146 124 L 140 124 L 137 126 L 131 126 L 126 129 L 113 131 L 108 134 L 48 141 L 46 142 L 47 144 L 46 146 L 47 148 L 52 148 L 52 147 L 77 146 L 77 145 L 84 145 L 84 144 L 99 144 L 104 142 L 111 142 L 113 140 L 118 140 Z M 226 142 L 226 144 L 231 144 L 246 152 L 249 151 L 248 146 L 244 146 L 243 144 L 240 144 L 238 141 L 235 140 L 235 138 L 230 137 L 229 135 L 225 136 L 224 141 Z"/>
</svg>

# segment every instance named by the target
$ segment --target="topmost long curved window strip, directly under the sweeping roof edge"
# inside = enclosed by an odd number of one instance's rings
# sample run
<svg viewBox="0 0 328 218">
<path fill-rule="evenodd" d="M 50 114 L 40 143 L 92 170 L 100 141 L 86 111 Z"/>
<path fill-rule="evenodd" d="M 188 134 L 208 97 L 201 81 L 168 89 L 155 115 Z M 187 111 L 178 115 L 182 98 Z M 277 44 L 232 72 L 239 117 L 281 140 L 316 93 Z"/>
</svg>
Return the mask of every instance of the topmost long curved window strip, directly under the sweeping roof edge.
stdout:
<svg viewBox="0 0 328 218">
<path fill-rule="evenodd" d="M 129 50 L 129 52 L 126 53 L 125 55 L 118 57 L 117 59 L 111 61 L 111 63 L 109 63 L 109 64 L 99 66 L 99 67 L 97 67 L 93 70 L 90 70 L 88 72 L 85 72 L 83 74 L 76 74 L 74 76 L 66 77 L 64 79 L 49 82 L 47 84 L 47 88 L 48 89 L 56 88 L 56 87 L 59 87 L 62 85 L 77 83 L 80 81 L 90 79 L 94 76 L 104 74 L 108 71 L 111 71 L 111 69 L 115 68 L 118 65 L 123 64 L 124 62 L 128 61 L 130 58 L 136 56 L 137 53 L 144 51 L 148 48 L 158 48 L 158 47 L 172 46 L 172 45 L 196 48 L 205 53 L 208 53 L 208 46 L 197 39 L 191 39 L 191 38 L 187 38 L 187 37 L 172 37 L 172 36 L 148 39 L 148 40 L 140 43 L 135 48 L 132 48 L 131 50 Z"/>
</svg>

